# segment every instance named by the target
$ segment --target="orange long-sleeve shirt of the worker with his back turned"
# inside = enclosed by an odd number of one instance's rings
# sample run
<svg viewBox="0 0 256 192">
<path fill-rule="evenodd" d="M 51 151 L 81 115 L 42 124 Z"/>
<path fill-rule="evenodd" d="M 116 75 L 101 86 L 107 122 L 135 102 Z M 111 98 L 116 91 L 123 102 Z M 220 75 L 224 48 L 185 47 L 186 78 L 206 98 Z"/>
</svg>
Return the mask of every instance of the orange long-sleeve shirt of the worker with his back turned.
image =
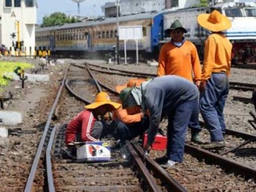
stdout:
<svg viewBox="0 0 256 192">
<path fill-rule="evenodd" d="M 230 75 L 232 43 L 225 35 L 213 33 L 205 40 L 205 57 L 202 67 L 202 82 L 207 81 L 212 73 L 220 71 Z"/>
</svg>

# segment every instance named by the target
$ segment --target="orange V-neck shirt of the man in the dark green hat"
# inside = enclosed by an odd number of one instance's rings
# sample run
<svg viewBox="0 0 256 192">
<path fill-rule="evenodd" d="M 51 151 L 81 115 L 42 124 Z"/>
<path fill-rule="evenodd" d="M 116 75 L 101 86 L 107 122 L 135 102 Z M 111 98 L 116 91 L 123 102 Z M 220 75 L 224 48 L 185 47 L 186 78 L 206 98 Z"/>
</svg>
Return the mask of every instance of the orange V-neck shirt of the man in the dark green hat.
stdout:
<svg viewBox="0 0 256 192">
<path fill-rule="evenodd" d="M 201 79 L 201 65 L 196 46 L 185 40 L 182 46 L 174 46 L 168 42 L 160 50 L 157 76 L 177 75 L 185 79 L 199 81 Z"/>
</svg>

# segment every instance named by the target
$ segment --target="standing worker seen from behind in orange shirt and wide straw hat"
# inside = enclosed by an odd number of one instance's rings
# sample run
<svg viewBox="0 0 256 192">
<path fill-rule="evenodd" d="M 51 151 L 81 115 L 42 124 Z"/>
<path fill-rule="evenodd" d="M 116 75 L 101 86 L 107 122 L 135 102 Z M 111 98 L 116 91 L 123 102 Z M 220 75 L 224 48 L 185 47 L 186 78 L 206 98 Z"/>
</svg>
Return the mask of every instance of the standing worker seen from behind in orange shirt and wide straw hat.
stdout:
<svg viewBox="0 0 256 192">
<path fill-rule="evenodd" d="M 199 106 L 211 140 L 203 148 L 214 149 L 224 146 L 226 131 L 223 110 L 230 90 L 232 43 L 223 31 L 230 29 L 231 21 L 218 10 L 198 15 L 197 21 L 212 32 L 205 40 Z"/>
</svg>

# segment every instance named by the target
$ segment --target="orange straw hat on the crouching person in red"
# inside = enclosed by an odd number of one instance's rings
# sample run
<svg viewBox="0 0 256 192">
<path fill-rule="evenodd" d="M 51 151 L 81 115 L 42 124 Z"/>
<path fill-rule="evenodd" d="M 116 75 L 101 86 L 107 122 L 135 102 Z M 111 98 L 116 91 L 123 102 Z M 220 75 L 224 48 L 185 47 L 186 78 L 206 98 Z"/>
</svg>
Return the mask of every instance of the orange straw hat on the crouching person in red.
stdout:
<svg viewBox="0 0 256 192">
<path fill-rule="evenodd" d="M 113 107 L 113 110 L 121 107 L 121 104 L 111 102 L 110 96 L 106 92 L 100 92 L 96 95 L 94 102 L 92 104 L 85 105 L 85 108 L 88 110 L 93 110 L 97 107 L 101 107 L 104 104 L 110 104 L 110 106 Z"/>
</svg>

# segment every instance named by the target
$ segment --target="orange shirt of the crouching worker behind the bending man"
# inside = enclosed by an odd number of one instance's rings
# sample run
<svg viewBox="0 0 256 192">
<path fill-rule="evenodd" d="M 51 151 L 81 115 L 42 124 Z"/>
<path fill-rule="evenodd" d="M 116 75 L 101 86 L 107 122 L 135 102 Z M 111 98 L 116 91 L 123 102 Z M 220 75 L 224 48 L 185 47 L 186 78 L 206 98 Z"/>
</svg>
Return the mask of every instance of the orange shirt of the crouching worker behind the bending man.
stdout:
<svg viewBox="0 0 256 192">
<path fill-rule="evenodd" d="M 121 102 L 121 101 L 118 101 Z M 124 124 L 132 124 L 141 121 L 141 107 L 134 106 L 134 107 L 127 107 L 123 109 L 119 107 L 113 113 L 113 118 L 118 118 Z"/>
</svg>

